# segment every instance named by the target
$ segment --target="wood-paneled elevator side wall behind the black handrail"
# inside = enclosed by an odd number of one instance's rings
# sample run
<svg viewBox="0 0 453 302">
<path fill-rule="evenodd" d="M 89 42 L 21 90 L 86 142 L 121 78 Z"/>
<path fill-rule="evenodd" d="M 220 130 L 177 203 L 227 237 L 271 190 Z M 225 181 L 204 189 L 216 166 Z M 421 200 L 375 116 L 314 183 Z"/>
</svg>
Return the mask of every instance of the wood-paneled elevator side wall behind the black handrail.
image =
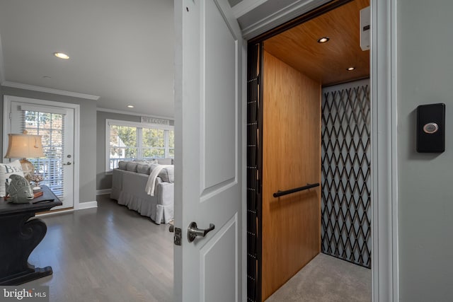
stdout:
<svg viewBox="0 0 453 302">
<path fill-rule="evenodd" d="M 263 278 L 265 300 L 321 248 L 321 84 L 264 53 Z"/>
</svg>

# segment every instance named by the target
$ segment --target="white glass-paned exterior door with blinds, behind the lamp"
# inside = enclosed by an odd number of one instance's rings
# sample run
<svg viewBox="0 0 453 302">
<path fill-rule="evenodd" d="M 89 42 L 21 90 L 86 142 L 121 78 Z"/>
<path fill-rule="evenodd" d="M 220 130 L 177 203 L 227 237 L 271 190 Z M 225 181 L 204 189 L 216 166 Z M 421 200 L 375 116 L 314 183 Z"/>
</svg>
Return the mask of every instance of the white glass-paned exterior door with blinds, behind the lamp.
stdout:
<svg viewBox="0 0 453 302">
<path fill-rule="evenodd" d="M 6 133 L 42 136 L 44 158 L 27 158 L 42 174 L 47 185 L 62 201 L 55 209 L 74 207 L 74 109 L 35 103 L 8 103 L 9 125 Z M 7 146 L 7 144 L 6 144 Z"/>
</svg>

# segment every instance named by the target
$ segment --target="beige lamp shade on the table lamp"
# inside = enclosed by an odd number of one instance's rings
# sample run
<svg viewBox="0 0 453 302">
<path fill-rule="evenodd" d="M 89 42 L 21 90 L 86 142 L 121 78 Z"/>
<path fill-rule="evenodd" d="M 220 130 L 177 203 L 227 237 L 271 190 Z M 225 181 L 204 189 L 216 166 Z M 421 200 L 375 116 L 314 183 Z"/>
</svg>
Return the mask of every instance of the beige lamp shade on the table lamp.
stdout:
<svg viewBox="0 0 453 302">
<path fill-rule="evenodd" d="M 5 158 L 44 157 L 40 135 L 8 134 L 8 150 Z"/>
</svg>

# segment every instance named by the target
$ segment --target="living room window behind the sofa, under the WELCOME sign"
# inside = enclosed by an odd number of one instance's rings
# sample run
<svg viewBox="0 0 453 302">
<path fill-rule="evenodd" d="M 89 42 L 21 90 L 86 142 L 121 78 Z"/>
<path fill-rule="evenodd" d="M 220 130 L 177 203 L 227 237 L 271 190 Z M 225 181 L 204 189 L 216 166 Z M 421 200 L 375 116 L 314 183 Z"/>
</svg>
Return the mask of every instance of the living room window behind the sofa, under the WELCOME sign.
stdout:
<svg viewBox="0 0 453 302">
<path fill-rule="evenodd" d="M 173 126 L 106 120 L 105 138 L 107 171 L 119 161 L 175 156 Z"/>
</svg>

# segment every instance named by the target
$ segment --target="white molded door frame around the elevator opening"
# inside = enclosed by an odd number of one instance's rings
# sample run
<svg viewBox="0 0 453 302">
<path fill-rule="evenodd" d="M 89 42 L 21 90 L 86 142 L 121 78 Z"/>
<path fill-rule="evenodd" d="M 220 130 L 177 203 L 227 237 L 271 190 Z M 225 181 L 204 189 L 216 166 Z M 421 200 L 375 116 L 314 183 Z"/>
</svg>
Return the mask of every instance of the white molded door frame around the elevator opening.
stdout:
<svg viewBox="0 0 453 302">
<path fill-rule="evenodd" d="M 239 3 L 241 9 L 238 9 L 239 4 L 233 8 L 235 17 L 243 16 L 265 1 L 267 0 L 243 0 Z M 398 0 L 370 0 L 372 301 L 375 302 L 399 300 L 396 1 Z M 324 3 L 326 0 L 306 0 L 302 3 L 294 1 L 294 5 L 288 6 L 287 10 L 265 17 L 243 30 L 244 38 L 256 37 Z M 243 269 L 246 272 L 246 267 Z M 246 301 L 246 296 L 243 301 Z"/>
</svg>

